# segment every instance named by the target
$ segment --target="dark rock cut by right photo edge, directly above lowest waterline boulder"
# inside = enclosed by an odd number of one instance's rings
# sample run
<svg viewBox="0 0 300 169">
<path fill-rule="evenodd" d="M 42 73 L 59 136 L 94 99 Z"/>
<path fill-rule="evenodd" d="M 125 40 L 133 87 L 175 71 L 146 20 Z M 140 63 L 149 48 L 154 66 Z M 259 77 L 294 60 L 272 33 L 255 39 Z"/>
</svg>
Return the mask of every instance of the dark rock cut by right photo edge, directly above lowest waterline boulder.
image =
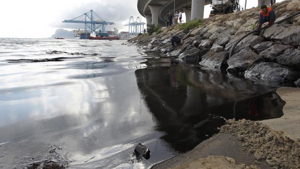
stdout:
<svg viewBox="0 0 300 169">
<path fill-rule="evenodd" d="M 300 70 L 300 50 L 288 48 L 276 58 L 276 62 Z"/>
</svg>

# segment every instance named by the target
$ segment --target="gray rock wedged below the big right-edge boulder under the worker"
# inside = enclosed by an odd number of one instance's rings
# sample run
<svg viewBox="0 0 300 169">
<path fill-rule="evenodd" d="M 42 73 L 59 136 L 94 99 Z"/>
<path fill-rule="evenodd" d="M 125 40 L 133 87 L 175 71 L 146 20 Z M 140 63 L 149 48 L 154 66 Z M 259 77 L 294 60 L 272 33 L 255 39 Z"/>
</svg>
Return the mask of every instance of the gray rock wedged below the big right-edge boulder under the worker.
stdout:
<svg viewBox="0 0 300 169">
<path fill-rule="evenodd" d="M 276 57 L 288 48 L 294 48 L 294 47 L 289 45 L 276 44 L 262 51 L 259 54 L 259 56 L 263 57 L 266 61 L 275 62 Z"/>
</svg>

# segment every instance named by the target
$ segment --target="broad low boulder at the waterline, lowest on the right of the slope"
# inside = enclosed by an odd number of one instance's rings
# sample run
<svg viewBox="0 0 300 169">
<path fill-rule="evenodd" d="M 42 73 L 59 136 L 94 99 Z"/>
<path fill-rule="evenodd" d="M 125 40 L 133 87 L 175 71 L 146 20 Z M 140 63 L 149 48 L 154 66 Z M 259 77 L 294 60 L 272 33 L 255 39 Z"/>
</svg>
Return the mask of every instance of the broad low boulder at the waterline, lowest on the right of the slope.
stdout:
<svg viewBox="0 0 300 169">
<path fill-rule="evenodd" d="M 245 77 L 253 80 L 267 80 L 283 83 L 285 81 L 294 82 L 300 78 L 300 74 L 278 63 L 260 62 L 247 70 Z"/>
</svg>

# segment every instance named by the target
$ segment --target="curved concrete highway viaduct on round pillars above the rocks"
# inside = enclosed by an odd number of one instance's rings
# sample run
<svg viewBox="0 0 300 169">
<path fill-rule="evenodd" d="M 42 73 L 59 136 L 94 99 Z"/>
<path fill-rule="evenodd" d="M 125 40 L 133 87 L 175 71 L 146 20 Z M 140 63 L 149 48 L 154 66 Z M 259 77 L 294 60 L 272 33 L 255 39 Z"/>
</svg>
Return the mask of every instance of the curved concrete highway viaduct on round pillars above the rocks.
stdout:
<svg viewBox="0 0 300 169">
<path fill-rule="evenodd" d="M 208 4 L 210 0 L 137 0 L 137 9 L 146 17 L 147 25 L 165 27 L 167 14 L 174 15 L 174 9 L 185 13 L 188 22 L 195 18 L 203 19 L 204 5 Z M 270 5 L 270 0 L 258 0 L 258 4 Z"/>
</svg>

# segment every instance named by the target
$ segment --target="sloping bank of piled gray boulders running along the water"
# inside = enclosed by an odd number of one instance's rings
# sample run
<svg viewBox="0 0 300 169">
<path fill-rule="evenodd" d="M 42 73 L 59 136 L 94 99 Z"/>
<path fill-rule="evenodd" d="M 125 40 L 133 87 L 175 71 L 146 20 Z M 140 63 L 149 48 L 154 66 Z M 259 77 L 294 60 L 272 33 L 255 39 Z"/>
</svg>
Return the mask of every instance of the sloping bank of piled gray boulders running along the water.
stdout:
<svg viewBox="0 0 300 169">
<path fill-rule="evenodd" d="M 300 11 L 300 0 L 273 4 L 277 20 Z M 244 75 L 253 81 L 292 84 L 300 87 L 300 15 L 274 24 L 259 36 L 249 35 L 229 52 L 236 41 L 255 28 L 259 8 L 228 15 L 215 15 L 191 31 L 179 25 L 162 28 L 159 33 L 137 36 L 129 42 L 158 50 L 170 57 L 201 66 Z M 171 47 L 170 33 L 178 34 L 182 45 Z"/>
</svg>

